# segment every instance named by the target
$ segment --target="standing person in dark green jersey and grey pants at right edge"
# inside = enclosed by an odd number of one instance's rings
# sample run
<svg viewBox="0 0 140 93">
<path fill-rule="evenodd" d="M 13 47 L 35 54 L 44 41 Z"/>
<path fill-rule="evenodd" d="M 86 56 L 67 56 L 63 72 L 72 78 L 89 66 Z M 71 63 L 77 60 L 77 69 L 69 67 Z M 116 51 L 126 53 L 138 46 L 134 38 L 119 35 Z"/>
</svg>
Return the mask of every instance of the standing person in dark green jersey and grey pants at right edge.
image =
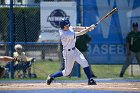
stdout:
<svg viewBox="0 0 140 93">
<path fill-rule="evenodd" d="M 125 70 L 132 63 L 134 57 L 136 57 L 140 65 L 140 32 L 138 31 L 138 23 L 133 23 L 133 30 L 126 37 L 126 46 L 127 60 L 122 67 L 120 77 L 123 77 Z"/>
</svg>

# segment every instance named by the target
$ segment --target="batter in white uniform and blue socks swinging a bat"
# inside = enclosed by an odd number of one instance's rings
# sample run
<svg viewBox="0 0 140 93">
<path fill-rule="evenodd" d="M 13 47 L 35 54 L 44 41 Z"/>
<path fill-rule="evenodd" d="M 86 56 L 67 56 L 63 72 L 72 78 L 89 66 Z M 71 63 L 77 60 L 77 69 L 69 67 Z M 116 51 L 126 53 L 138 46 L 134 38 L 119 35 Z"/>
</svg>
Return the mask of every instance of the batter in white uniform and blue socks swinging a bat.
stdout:
<svg viewBox="0 0 140 93">
<path fill-rule="evenodd" d="M 55 74 L 51 74 L 48 76 L 46 83 L 50 85 L 51 82 L 61 76 L 68 76 L 73 68 L 74 62 L 76 61 L 79 63 L 88 78 L 88 85 L 96 85 L 93 77 L 90 74 L 90 68 L 87 60 L 85 59 L 84 55 L 75 47 L 76 37 L 83 35 L 95 28 L 86 28 L 81 31 L 74 31 L 70 26 L 70 22 L 68 19 L 62 19 L 60 21 L 60 38 L 63 45 L 63 57 L 65 61 L 65 69 L 63 71 L 58 71 Z"/>
</svg>

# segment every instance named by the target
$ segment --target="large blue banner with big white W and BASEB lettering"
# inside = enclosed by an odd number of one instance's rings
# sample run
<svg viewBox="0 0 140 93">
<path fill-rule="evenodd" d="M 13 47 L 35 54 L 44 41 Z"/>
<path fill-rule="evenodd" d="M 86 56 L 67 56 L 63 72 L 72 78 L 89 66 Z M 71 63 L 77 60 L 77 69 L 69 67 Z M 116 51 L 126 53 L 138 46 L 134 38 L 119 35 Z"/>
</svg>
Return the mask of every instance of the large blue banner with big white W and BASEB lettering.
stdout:
<svg viewBox="0 0 140 93">
<path fill-rule="evenodd" d="M 123 64 L 126 35 L 132 30 L 133 22 L 140 24 L 140 0 L 83 0 L 83 3 L 84 26 L 96 23 L 113 8 L 118 8 L 89 33 L 92 41 L 88 60 L 93 64 Z"/>
</svg>

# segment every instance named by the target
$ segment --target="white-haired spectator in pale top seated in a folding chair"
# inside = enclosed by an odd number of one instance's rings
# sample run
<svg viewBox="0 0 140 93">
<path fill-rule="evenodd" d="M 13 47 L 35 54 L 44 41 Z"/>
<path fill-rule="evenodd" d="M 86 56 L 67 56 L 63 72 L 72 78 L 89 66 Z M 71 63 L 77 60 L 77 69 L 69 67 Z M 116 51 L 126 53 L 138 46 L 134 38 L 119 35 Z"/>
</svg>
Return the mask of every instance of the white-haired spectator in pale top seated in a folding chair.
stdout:
<svg viewBox="0 0 140 93">
<path fill-rule="evenodd" d="M 20 44 L 15 45 L 15 52 L 14 52 L 14 58 L 16 58 L 15 64 L 14 64 L 14 70 L 18 71 L 18 77 L 20 76 L 20 70 L 23 72 L 23 78 L 26 77 L 26 71 L 28 70 L 28 77 L 31 77 L 31 62 L 33 58 L 29 58 L 26 56 L 25 52 L 23 52 L 23 47 Z M 10 70 L 10 63 L 8 63 L 6 68 L 9 68 Z"/>
</svg>

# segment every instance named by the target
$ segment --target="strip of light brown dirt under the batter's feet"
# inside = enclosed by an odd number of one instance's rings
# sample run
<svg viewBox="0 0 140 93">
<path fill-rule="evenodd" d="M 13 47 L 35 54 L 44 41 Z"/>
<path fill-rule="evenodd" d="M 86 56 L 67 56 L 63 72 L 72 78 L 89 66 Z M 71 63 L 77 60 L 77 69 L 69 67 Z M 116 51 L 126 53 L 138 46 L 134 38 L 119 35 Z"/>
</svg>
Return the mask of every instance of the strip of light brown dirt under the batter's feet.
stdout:
<svg viewBox="0 0 140 93">
<path fill-rule="evenodd" d="M 90 89 L 140 92 L 140 82 L 99 82 L 97 85 L 87 83 L 0 83 L 0 90 L 34 90 L 34 89 Z"/>
</svg>

